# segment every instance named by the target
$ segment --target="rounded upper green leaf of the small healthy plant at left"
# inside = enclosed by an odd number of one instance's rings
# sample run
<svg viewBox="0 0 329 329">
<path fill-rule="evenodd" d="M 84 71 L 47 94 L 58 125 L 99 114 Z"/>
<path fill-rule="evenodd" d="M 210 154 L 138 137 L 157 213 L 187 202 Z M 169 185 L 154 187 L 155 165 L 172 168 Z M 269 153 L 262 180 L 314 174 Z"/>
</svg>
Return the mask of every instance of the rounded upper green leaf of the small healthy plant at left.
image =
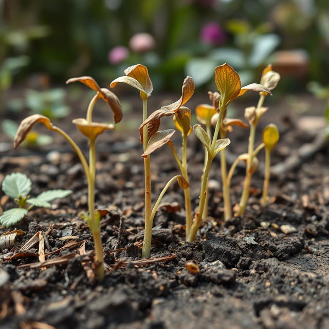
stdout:
<svg viewBox="0 0 329 329">
<path fill-rule="evenodd" d="M 31 191 L 31 179 L 22 173 L 7 175 L 2 182 L 2 190 L 13 199 L 20 196 L 27 196 Z"/>
</svg>

